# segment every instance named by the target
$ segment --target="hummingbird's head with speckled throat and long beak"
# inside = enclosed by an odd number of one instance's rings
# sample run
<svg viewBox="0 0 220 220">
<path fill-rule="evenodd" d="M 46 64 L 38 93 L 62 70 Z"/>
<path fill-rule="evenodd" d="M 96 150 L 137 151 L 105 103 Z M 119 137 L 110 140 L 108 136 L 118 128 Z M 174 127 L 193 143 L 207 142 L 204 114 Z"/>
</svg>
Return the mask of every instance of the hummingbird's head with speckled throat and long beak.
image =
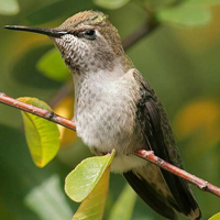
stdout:
<svg viewBox="0 0 220 220">
<path fill-rule="evenodd" d="M 50 36 L 73 72 L 112 69 L 114 62 L 124 56 L 117 29 L 98 11 L 79 12 L 55 29 L 4 28 Z"/>
</svg>

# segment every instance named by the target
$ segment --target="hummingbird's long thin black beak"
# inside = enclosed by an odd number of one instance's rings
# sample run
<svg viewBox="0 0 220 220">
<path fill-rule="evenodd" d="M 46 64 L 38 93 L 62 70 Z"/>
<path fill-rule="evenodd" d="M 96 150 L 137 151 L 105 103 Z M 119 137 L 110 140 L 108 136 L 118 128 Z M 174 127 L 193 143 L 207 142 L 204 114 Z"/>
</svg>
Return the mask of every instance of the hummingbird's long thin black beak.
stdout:
<svg viewBox="0 0 220 220">
<path fill-rule="evenodd" d="M 42 29 L 42 28 L 32 28 L 32 26 L 20 26 L 20 25 L 6 25 L 4 29 L 34 32 L 34 33 L 44 34 L 47 36 L 53 36 L 53 37 L 61 37 L 62 35 L 67 34 L 66 31 L 58 31 L 56 29 Z"/>
</svg>

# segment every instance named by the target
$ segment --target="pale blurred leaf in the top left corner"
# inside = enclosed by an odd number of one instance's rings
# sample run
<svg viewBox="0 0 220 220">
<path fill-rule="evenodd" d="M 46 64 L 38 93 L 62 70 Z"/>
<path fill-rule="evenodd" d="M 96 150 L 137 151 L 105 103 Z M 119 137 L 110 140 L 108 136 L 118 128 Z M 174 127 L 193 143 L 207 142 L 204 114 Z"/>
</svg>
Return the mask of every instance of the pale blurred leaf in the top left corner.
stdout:
<svg viewBox="0 0 220 220">
<path fill-rule="evenodd" d="M 0 14 L 14 15 L 19 11 L 20 8 L 16 0 L 0 0 Z"/>
</svg>

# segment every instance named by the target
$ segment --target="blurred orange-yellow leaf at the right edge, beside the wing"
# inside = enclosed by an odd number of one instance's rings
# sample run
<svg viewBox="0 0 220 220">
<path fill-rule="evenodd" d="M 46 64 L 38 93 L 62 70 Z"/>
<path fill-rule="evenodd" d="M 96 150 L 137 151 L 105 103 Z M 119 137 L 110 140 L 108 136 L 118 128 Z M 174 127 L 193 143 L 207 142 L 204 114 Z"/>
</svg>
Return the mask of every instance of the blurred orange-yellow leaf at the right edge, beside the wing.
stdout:
<svg viewBox="0 0 220 220">
<path fill-rule="evenodd" d="M 194 156 L 206 153 L 220 143 L 219 101 L 200 99 L 188 103 L 176 116 L 174 128 L 179 140 L 188 140 Z"/>
</svg>

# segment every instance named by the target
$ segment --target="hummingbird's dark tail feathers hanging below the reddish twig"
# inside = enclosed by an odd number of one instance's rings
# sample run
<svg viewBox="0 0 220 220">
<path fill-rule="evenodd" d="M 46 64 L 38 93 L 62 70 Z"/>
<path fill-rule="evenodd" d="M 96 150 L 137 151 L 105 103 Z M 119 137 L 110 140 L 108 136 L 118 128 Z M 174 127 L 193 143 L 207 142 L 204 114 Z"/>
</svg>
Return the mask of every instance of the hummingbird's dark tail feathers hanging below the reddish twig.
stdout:
<svg viewBox="0 0 220 220">
<path fill-rule="evenodd" d="M 146 174 L 147 174 L 147 168 L 146 168 Z M 165 173 L 165 175 L 164 172 L 162 172 L 161 174 L 163 174 L 163 178 L 167 184 L 168 187 L 167 190 L 169 190 L 170 194 L 170 196 L 168 197 L 165 197 L 162 194 L 160 194 L 158 190 L 155 188 L 155 185 L 147 182 L 147 176 L 144 175 L 142 177 L 143 173 L 141 175 L 141 173 L 139 174 L 139 172 L 136 170 L 135 173 L 130 170 L 124 173 L 123 175 L 128 180 L 128 183 L 131 185 L 131 187 L 136 191 L 136 194 L 153 210 L 164 216 L 165 218 L 170 220 L 176 220 L 177 216 L 174 211 L 174 209 L 176 209 L 178 212 L 187 216 L 190 219 L 200 220 L 201 219 L 200 209 L 187 183 L 184 179 L 180 179 L 174 175 L 172 175 L 172 179 L 173 178 L 174 179 L 167 183 L 166 178 L 168 178 L 169 174 L 168 176 L 166 175 L 167 172 Z M 175 186 L 173 185 L 172 187 L 170 183 L 175 184 Z"/>
</svg>

